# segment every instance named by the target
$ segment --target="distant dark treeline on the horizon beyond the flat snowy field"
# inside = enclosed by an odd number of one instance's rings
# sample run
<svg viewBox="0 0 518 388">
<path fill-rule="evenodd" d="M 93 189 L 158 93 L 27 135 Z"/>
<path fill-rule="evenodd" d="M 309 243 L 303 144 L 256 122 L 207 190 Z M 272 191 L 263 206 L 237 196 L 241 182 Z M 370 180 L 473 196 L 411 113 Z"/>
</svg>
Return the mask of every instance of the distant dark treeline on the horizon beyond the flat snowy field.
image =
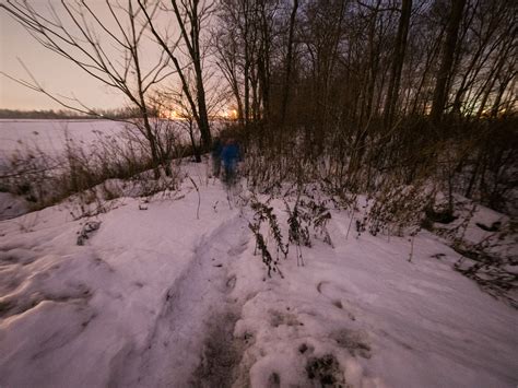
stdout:
<svg viewBox="0 0 518 388">
<path fill-rule="evenodd" d="M 134 110 L 128 108 L 99 109 L 96 115 L 86 115 L 68 109 L 17 110 L 0 109 L 0 119 L 125 119 L 134 117 Z"/>
</svg>

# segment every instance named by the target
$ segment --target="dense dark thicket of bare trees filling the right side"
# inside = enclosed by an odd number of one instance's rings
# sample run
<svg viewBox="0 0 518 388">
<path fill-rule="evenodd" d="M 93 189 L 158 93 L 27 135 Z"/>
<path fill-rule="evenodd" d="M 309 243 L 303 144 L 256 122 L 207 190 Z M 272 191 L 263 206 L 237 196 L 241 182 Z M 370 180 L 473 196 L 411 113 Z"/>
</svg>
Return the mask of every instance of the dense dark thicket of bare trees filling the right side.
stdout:
<svg viewBox="0 0 518 388">
<path fill-rule="evenodd" d="M 516 4 L 221 0 L 216 15 L 243 141 L 263 156 L 252 180 L 432 181 L 449 213 L 455 193 L 516 211 Z"/>
</svg>

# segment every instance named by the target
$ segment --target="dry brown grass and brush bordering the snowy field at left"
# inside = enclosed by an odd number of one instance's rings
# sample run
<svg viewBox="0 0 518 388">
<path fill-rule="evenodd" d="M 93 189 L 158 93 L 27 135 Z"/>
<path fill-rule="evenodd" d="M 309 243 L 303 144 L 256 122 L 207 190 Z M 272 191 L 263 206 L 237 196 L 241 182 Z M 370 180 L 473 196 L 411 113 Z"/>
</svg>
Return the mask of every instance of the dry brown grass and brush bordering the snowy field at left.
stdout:
<svg viewBox="0 0 518 388">
<path fill-rule="evenodd" d="M 173 174 L 172 163 L 164 168 L 167 177 L 153 178 L 146 173 L 152 168 L 151 160 L 138 132 L 127 130 L 121 136 L 125 141 L 97 132 L 96 140 L 85 149 L 66 133 L 64 151 L 58 155 L 50 155 L 36 145 L 23 145 L 2 168 L 2 189 L 25 198 L 32 209 L 42 209 L 73 195 L 74 201 L 89 205 L 125 195 L 152 196 L 176 188 L 179 177 Z M 164 158 L 169 161 L 172 141 L 163 140 L 164 148 L 169 144 L 164 150 Z"/>
</svg>

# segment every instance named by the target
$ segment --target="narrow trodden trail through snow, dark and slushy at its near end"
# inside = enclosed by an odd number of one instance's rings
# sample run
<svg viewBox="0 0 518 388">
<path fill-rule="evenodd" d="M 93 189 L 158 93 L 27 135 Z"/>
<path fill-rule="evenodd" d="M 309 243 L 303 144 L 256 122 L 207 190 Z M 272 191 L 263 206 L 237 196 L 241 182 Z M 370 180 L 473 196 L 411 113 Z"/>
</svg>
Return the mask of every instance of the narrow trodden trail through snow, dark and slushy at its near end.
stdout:
<svg viewBox="0 0 518 388">
<path fill-rule="evenodd" d="M 232 343 L 237 309 L 228 298 L 236 282 L 228 268 L 247 243 L 246 224 L 237 216 L 201 238 L 189 266 L 163 297 L 162 310 L 144 345 L 129 346 L 128 354 L 119 355 L 120 366 L 114 371 L 110 386 L 186 387 L 209 379 L 220 383 L 209 386 L 222 387 L 221 383 L 229 380 L 231 365 L 216 365 L 223 358 L 204 360 L 200 365 L 200 354 L 223 357 L 223 353 L 231 353 L 225 346 Z M 203 351 L 208 345 L 214 349 Z"/>
</svg>

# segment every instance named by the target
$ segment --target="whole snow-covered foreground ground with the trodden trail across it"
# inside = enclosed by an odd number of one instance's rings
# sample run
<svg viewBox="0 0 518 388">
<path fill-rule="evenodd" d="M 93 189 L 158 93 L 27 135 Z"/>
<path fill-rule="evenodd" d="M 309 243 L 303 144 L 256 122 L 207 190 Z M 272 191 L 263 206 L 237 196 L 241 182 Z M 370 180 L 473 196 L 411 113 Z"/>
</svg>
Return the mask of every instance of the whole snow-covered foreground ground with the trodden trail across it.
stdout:
<svg viewBox="0 0 518 388">
<path fill-rule="evenodd" d="M 186 172 L 199 192 L 185 179 L 95 217 L 61 204 L 0 223 L 0 387 L 518 384 L 517 310 L 438 237 L 421 232 L 409 262 L 407 238 L 346 237 L 333 210 L 333 247 L 314 239 L 304 267 L 291 249 L 268 278 L 251 210 L 204 165 Z"/>
</svg>

